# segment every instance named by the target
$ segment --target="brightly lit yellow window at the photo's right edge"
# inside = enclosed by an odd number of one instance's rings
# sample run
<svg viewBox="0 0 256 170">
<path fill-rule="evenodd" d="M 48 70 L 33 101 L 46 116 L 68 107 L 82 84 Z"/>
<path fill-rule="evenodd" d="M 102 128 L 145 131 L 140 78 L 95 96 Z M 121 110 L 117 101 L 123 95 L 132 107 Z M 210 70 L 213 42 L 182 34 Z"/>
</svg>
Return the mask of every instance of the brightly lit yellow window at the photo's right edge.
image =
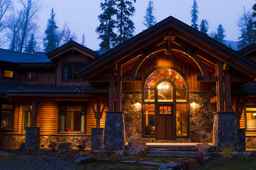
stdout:
<svg viewBox="0 0 256 170">
<path fill-rule="evenodd" d="M 246 107 L 246 127 L 256 129 L 256 107 Z"/>
</svg>

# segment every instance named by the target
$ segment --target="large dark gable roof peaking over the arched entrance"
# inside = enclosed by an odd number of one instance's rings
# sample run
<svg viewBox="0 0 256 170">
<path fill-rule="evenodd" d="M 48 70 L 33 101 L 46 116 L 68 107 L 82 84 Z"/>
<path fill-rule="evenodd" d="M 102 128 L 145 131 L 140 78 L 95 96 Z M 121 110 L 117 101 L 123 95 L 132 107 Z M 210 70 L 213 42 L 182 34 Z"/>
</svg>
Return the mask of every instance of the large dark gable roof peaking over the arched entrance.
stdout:
<svg viewBox="0 0 256 170">
<path fill-rule="evenodd" d="M 217 59 L 224 61 L 224 59 L 231 59 L 232 65 L 236 67 L 236 65 L 240 65 L 240 71 L 243 73 L 255 76 L 256 78 L 256 65 L 250 59 L 244 58 L 240 53 L 228 48 L 224 44 L 215 41 L 211 37 L 204 35 L 200 31 L 190 27 L 187 24 L 173 18 L 173 16 L 169 16 L 165 20 L 162 20 L 156 25 L 142 31 L 135 37 L 132 37 L 128 41 L 119 44 L 112 50 L 102 54 L 99 58 L 93 59 L 86 65 L 83 65 L 81 69 L 79 69 L 79 73 L 86 78 L 90 78 L 96 73 L 102 71 L 102 66 L 104 65 L 111 65 L 118 59 L 121 59 L 121 54 L 124 54 L 127 51 L 131 51 L 137 49 L 137 46 L 144 42 L 144 46 L 146 46 L 150 41 L 150 38 L 153 36 L 158 35 L 159 33 L 163 32 L 166 29 L 173 28 L 176 30 L 176 33 L 179 31 L 186 37 L 188 37 L 187 41 L 194 41 L 196 42 L 196 47 L 202 50 L 209 50 L 211 54 L 213 54 Z M 170 30 L 171 33 L 173 30 Z M 175 33 L 173 33 L 175 35 Z M 221 56 L 221 57 L 220 57 Z M 119 58 L 117 58 L 119 57 Z M 99 69 L 100 68 L 100 69 Z"/>
</svg>

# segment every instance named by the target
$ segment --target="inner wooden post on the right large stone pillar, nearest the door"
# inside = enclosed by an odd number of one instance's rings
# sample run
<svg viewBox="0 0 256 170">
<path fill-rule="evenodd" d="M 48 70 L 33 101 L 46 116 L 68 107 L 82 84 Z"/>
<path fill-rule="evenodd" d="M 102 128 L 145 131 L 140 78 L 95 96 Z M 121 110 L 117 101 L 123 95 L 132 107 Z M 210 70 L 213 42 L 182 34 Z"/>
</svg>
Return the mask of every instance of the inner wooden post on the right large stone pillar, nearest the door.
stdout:
<svg viewBox="0 0 256 170">
<path fill-rule="evenodd" d="M 221 61 L 217 60 L 216 76 L 218 78 L 216 82 L 216 92 L 217 92 L 217 112 L 224 111 L 224 99 L 223 99 L 223 65 Z"/>
</svg>

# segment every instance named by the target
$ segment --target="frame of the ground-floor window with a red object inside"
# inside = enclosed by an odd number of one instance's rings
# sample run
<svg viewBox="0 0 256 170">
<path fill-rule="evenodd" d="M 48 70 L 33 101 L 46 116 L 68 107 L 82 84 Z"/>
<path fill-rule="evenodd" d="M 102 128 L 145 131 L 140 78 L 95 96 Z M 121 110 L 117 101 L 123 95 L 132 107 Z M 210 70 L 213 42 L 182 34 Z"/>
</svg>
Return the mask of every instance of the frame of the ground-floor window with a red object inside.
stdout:
<svg viewBox="0 0 256 170">
<path fill-rule="evenodd" d="M 74 110 L 72 110 L 72 118 L 71 118 L 71 131 L 60 131 L 61 129 L 61 115 L 62 115 L 62 106 L 66 106 L 66 105 L 71 105 L 72 108 L 74 108 L 74 106 L 81 106 L 84 107 L 84 110 L 81 110 L 81 112 L 84 112 L 84 116 L 85 116 L 85 124 L 84 124 L 84 131 L 81 131 L 81 127 L 80 127 L 80 131 L 74 131 Z M 66 117 L 65 117 L 65 121 L 66 121 Z M 80 116 L 80 121 L 81 121 L 81 116 Z M 86 134 L 87 133 L 87 107 L 85 105 L 85 103 L 60 103 L 59 105 L 59 114 L 58 114 L 58 133 L 72 133 L 72 134 Z"/>
</svg>

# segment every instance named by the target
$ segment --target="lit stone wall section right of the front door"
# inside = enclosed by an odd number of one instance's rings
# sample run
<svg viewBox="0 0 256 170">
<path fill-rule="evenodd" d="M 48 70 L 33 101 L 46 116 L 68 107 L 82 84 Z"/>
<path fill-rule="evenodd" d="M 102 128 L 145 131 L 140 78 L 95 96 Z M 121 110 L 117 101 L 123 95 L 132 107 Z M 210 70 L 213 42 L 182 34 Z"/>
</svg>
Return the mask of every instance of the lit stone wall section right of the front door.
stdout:
<svg viewBox="0 0 256 170">
<path fill-rule="evenodd" d="M 213 141 L 213 112 L 216 103 L 211 104 L 213 92 L 190 92 L 190 103 L 196 103 L 196 108 L 190 107 L 190 140 L 192 143 L 211 143 Z"/>
</svg>

